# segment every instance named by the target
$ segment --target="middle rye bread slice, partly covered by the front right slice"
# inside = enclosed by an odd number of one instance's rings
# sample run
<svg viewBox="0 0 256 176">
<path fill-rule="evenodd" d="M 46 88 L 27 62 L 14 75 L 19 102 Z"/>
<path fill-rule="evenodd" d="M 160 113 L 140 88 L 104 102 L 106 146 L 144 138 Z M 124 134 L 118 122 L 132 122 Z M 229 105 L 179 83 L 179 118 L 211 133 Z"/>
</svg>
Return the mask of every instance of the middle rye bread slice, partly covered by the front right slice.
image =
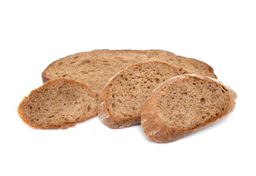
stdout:
<svg viewBox="0 0 256 176">
<path fill-rule="evenodd" d="M 152 90 L 188 70 L 166 62 L 139 62 L 121 70 L 99 95 L 98 115 L 110 128 L 125 128 L 141 122 L 141 107 Z"/>
</svg>

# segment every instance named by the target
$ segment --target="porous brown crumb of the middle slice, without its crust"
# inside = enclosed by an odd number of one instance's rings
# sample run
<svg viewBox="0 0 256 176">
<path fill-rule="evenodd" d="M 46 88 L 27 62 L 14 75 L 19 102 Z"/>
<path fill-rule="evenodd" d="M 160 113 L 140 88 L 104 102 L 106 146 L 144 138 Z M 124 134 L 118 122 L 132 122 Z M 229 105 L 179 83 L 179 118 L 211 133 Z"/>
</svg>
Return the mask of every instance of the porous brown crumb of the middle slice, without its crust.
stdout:
<svg viewBox="0 0 256 176">
<path fill-rule="evenodd" d="M 141 106 L 154 88 L 174 76 L 188 73 L 165 62 L 143 62 L 128 67 L 113 78 L 107 92 L 107 110 L 116 119 L 141 117 Z"/>
</svg>

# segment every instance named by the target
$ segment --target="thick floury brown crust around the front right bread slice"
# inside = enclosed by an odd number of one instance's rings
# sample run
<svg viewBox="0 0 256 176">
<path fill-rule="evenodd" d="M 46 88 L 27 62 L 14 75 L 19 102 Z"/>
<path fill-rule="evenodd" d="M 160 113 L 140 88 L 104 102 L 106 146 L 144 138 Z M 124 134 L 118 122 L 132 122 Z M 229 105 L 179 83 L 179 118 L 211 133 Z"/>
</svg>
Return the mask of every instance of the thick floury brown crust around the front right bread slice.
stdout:
<svg viewBox="0 0 256 176">
<path fill-rule="evenodd" d="M 216 119 L 212 121 L 205 122 L 202 125 L 199 125 L 196 128 L 193 128 L 192 130 L 187 130 L 185 128 L 181 129 L 171 129 L 167 126 L 163 125 L 162 122 L 160 122 L 160 119 L 158 118 L 158 109 L 154 108 L 157 106 L 158 101 L 161 98 L 161 95 L 164 95 L 168 86 L 175 81 L 181 81 L 188 77 L 194 76 L 196 78 L 201 79 L 208 79 L 211 81 L 216 81 L 219 84 L 221 84 L 223 87 L 228 89 L 230 94 L 230 103 L 227 108 L 227 111 L 223 114 L 219 114 Z M 168 81 L 165 81 L 163 84 L 160 84 L 159 87 L 154 89 L 154 91 L 149 95 L 145 103 L 143 104 L 142 110 L 141 110 L 141 126 L 143 128 L 143 131 L 145 135 L 153 140 L 154 142 L 172 142 L 175 141 L 182 136 L 186 136 L 189 133 L 193 133 L 194 131 L 198 131 L 201 128 L 205 128 L 208 125 L 213 124 L 214 122 L 217 122 L 218 120 L 223 119 L 228 114 L 230 114 L 235 109 L 235 98 L 236 94 L 235 92 L 230 88 L 222 84 L 220 81 L 217 81 L 213 78 L 209 77 L 203 77 L 203 76 L 195 76 L 195 75 L 182 75 L 182 76 L 176 76 L 174 78 L 169 79 Z"/>
</svg>

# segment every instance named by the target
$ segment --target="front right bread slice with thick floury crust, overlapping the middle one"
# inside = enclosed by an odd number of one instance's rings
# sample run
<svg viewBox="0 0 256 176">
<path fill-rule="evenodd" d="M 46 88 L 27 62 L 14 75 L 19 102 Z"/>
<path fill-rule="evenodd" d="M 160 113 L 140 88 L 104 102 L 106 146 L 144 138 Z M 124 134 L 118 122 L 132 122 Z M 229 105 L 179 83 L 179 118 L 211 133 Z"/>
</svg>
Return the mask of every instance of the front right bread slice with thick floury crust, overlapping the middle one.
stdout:
<svg viewBox="0 0 256 176">
<path fill-rule="evenodd" d="M 171 142 L 230 114 L 235 92 L 212 78 L 182 75 L 165 81 L 141 110 L 141 126 L 154 142 Z"/>
</svg>

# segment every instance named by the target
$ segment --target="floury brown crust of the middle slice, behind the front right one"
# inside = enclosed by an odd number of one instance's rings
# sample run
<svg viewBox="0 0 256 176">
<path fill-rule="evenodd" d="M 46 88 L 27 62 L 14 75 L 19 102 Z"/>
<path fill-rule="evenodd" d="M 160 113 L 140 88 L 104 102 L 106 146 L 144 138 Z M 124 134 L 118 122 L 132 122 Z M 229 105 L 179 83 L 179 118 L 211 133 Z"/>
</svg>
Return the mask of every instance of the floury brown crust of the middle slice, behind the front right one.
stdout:
<svg viewBox="0 0 256 176">
<path fill-rule="evenodd" d="M 102 89 L 102 92 L 99 95 L 99 110 L 98 115 L 100 117 L 100 120 L 104 123 L 104 125 L 107 125 L 109 128 L 126 128 L 132 125 L 140 124 L 141 117 L 134 117 L 132 119 L 125 119 L 120 120 L 118 118 L 113 117 L 112 114 L 110 114 L 110 111 L 108 111 L 107 108 L 107 93 L 109 92 L 109 89 L 111 85 L 113 84 L 113 80 L 118 76 L 124 73 L 124 71 L 131 69 L 132 67 L 136 67 L 138 65 L 142 65 L 144 63 L 163 63 L 166 65 L 169 65 L 171 67 L 177 67 L 176 65 L 170 65 L 166 62 L 160 62 L 160 61 L 146 61 L 146 62 L 138 62 L 135 65 L 130 65 L 129 67 L 124 68 L 123 70 L 119 71 L 113 78 L 110 79 L 110 81 L 107 82 L 105 87 Z M 178 67 L 181 68 L 181 67 Z M 184 68 L 181 68 L 182 70 L 185 70 Z M 188 73 L 190 73 L 188 70 L 186 70 Z"/>
</svg>

